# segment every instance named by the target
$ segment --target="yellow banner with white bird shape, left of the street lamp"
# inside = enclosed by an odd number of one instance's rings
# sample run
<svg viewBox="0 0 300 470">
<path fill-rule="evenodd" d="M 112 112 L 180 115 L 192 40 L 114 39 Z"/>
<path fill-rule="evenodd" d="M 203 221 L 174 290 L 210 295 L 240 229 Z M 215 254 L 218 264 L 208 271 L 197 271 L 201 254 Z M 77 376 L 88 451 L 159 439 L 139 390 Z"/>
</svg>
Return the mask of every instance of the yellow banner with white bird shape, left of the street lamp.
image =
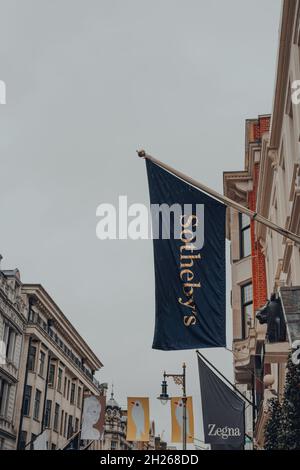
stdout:
<svg viewBox="0 0 300 470">
<path fill-rule="evenodd" d="M 149 398 L 127 398 L 127 441 L 149 442 Z"/>
</svg>

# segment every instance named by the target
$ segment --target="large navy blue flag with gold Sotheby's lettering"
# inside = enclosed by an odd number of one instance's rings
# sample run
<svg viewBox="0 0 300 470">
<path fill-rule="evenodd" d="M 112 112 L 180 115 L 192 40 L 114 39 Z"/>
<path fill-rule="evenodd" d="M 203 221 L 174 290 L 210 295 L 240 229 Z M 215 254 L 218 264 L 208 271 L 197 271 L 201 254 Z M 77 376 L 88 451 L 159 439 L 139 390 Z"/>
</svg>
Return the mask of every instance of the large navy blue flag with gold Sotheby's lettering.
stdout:
<svg viewBox="0 0 300 470">
<path fill-rule="evenodd" d="M 155 265 L 153 348 L 224 347 L 226 207 L 146 163 Z"/>
</svg>

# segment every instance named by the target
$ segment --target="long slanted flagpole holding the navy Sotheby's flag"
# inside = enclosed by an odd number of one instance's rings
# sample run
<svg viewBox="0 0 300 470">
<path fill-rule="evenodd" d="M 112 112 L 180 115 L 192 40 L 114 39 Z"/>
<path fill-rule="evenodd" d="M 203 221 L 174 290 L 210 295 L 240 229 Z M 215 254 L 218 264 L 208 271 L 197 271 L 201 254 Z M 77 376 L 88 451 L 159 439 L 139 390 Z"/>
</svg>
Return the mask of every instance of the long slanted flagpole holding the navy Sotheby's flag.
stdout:
<svg viewBox="0 0 300 470">
<path fill-rule="evenodd" d="M 151 157 L 151 155 L 148 155 L 144 150 L 138 150 L 137 154 L 140 158 L 146 158 L 147 160 L 150 160 L 151 162 L 155 163 L 156 165 L 160 166 L 161 168 L 164 168 L 167 170 L 169 173 L 172 173 L 173 175 L 177 176 L 178 178 L 182 179 L 186 183 L 194 186 L 195 188 L 200 189 L 201 191 L 204 191 L 205 193 L 209 194 L 210 196 L 214 197 L 215 199 L 218 199 L 219 201 L 223 202 L 226 206 L 232 207 L 233 209 L 236 209 L 238 212 L 241 212 L 242 214 L 246 214 L 250 217 L 250 219 L 255 220 L 256 222 L 259 222 L 260 224 L 265 225 L 271 230 L 274 230 L 275 232 L 279 233 L 285 238 L 288 238 L 289 240 L 292 240 L 293 242 L 297 243 L 300 245 L 300 236 L 296 235 L 293 232 L 290 232 L 289 230 L 280 227 L 277 224 L 274 224 L 270 220 L 266 219 L 262 215 L 258 214 L 257 212 L 251 211 L 248 209 L 248 207 L 243 206 L 242 204 L 239 204 L 238 202 L 233 201 L 232 199 L 223 196 L 222 194 L 218 193 L 217 191 L 214 191 L 213 189 L 209 188 L 208 186 L 205 186 L 202 183 L 199 183 L 198 181 L 194 180 L 193 178 L 190 178 L 189 176 L 185 175 L 184 173 L 181 173 L 178 170 L 175 170 L 175 168 L 172 168 L 169 165 L 166 165 L 165 163 L 161 162 L 160 160 L 157 160 L 154 157 Z"/>
</svg>

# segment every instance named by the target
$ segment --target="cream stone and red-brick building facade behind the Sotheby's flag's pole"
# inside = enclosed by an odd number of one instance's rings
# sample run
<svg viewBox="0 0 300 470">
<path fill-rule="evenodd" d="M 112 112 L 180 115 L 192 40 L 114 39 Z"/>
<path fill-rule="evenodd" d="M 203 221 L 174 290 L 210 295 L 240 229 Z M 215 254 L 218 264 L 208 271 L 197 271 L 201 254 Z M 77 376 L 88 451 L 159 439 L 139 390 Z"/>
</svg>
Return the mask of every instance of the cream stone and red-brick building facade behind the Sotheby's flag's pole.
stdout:
<svg viewBox="0 0 300 470">
<path fill-rule="evenodd" d="M 299 235 L 300 105 L 292 100 L 296 80 L 300 80 L 300 1 L 284 0 L 272 116 L 246 122 L 244 169 L 224 174 L 224 193 Z M 252 397 L 255 406 L 248 426 L 255 446 L 263 448 L 268 400 L 283 395 L 296 324 L 300 332 L 297 309 L 289 322 L 291 306 L 300 299 L 300 247 L 231 209 L 227 237 L 235 380 Z M 269 299 L 272 303 L 264 307 Z M 270 305 L 275 304 L 279 313 L 272 327 Z"/>
</svg>

